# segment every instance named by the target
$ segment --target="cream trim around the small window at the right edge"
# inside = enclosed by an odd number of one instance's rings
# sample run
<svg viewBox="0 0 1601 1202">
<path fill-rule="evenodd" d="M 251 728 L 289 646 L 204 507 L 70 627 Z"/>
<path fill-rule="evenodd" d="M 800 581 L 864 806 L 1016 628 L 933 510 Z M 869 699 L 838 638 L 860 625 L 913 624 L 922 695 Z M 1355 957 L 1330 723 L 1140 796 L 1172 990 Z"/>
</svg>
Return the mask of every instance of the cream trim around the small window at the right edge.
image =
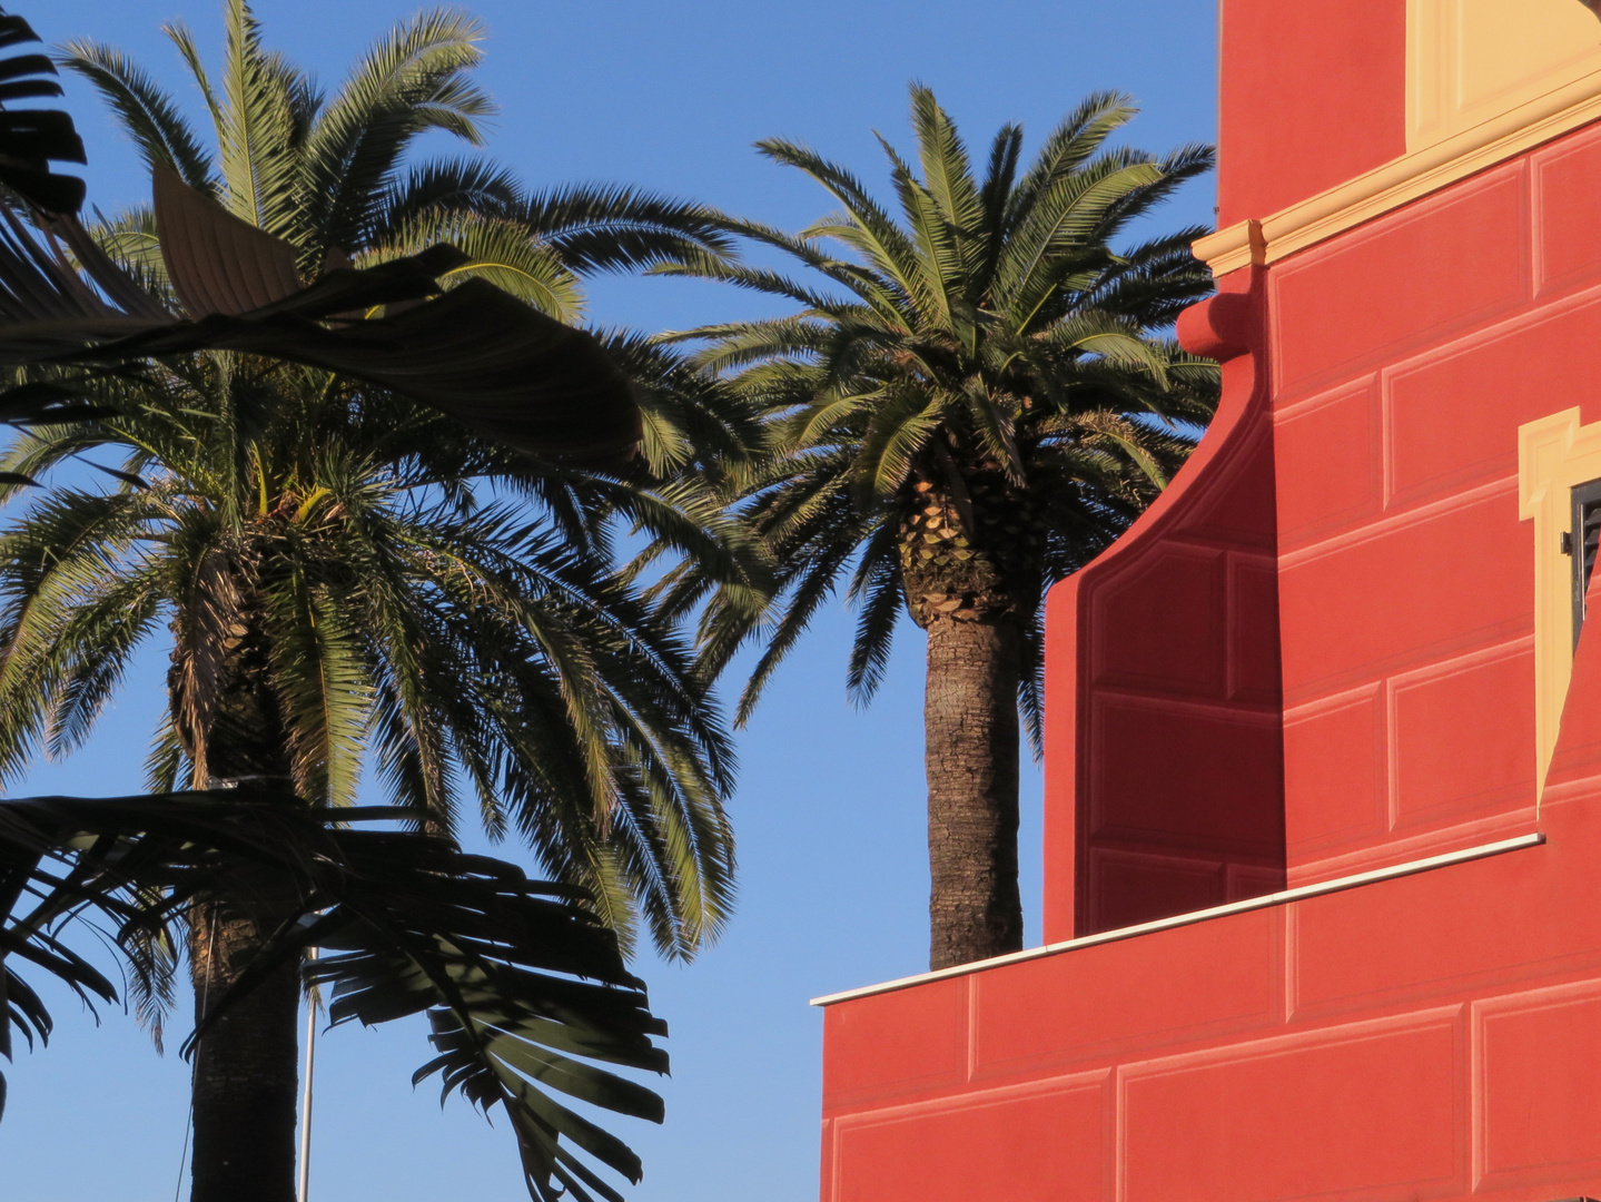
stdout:
<svg viewBox="0 0 1601 1202">
<path fill-rule="evenodd" d="M 1601 421 L 1580 426 L 1579 410 L 1563 410 L 1518 427 L 1518 515 L 1534 519 L 1534 754 L 1542 792 L 1574 671 L 1574 563 L 1561 546 L 1572 533 L 1569 490 L 1596 479 Z"/>
</svg>

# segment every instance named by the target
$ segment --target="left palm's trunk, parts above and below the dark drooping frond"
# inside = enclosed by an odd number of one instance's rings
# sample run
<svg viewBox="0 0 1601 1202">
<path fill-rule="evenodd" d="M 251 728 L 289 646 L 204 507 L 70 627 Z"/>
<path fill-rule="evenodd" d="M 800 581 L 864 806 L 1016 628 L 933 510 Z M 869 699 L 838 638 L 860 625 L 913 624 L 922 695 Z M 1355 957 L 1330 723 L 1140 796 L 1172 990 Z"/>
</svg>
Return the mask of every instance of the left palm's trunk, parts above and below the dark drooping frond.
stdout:
<svg viewBox="0 0 1601 1202">
<path fill-rule="evenodd" d="M 173 712 L 197 783 L 290 789 L 288 739 L 267 685 L 267 648 L 242 591 L 219 573 L 211 629 L 175 653 Z M 248 594 L 247 594 L 248 595 Z M 231 616 L 229 616 L 231 615 Z M 277 927 L 271 880 L 240 879 L 189 916 L 195 1020 L 239 978 Z M 299 1079 L 296 964 L 232 1005 L 195 1050 L 191 1202 L 293 1202 Z"/>
</svg>

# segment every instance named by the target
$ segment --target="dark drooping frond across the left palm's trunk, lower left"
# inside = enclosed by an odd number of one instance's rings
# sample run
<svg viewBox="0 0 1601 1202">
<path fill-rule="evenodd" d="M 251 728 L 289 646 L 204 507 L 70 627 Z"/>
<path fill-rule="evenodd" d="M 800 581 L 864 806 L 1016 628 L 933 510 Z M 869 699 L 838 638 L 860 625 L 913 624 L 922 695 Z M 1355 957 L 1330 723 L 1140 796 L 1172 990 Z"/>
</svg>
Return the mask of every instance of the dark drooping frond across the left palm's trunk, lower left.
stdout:
<svg viewBox="0 0 1601 1202">
<path fill-rule="evenodd" d="M 435 1055 L 416 1080 L 439 1074 L 447 1095 L 501 1108 L 532 1197 L 621 1202 L 597 1168 L 637 1183 L 637 1156 L 557 1095 L 661 1120 L 661 1100 L 613 1071 L 668 1071 L 644 984 L 581 896 L 447 839 L 367 829 L 397 816 L 251 789 L 0 800 L 0 1053 L 11 1056 L 11 1028 L 30 1044 L 50 1037 L 29 973 L 85 1000 L 117 999 L 74 951 L 75 928 L 107 927 L 138 975 L 141 948 L 152 936 L 173 946 L 170 927 L 192 899 L 248 879 L 275 935 L 186 1055 L 277 965 L 325 949 L 306 973 L 331 992 L 335 1026 L 426 1015 Z"/>
</svg>

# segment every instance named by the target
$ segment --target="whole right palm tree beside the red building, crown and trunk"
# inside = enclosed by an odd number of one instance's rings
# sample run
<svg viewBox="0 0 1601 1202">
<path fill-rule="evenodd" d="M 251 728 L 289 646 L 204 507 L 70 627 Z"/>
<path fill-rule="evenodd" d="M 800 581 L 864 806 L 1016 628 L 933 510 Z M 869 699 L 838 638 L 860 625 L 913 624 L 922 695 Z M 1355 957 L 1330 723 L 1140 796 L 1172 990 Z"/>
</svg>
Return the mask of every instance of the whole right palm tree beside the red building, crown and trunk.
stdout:
<svg viewBox="0 0 1601 1202">
<path fill-rule="evenodd" d="M 660 269 L 800 306 L 666 336 L 701 343 L 695 362 L 770 431 L 740 512 L 768 543 L 781 595 L 765 621 L 714 597 L 706 658 L 720 666 L 765 632 L 744 720 L 847 573 L 858 699 L 903 607 L 927 632 L 933 968 L 1021 946 L 1018 709 L 1037 747 L 1044 591 L 1148 504 L 1215 405 L 1215 367 L 1164 336 L 1210 290 L 1188 250 L 1201 230 L 1117 248 L 1212 152 L 1108 147 L 1132 115 L 1122 96 L 1087 98 L 1021 173 L 1023 133 L 1007 125 L 980 181 L 933 93 L 913 86 L 921 176 L 884 142 L 900 222 L 842 166 L 759 142 L 841 210 L 799 235 L 736 229 L 817 283 L 704 253 Z M 704 595 L 692 570 L 664 587 L 677 605 Z"/>
</svg>

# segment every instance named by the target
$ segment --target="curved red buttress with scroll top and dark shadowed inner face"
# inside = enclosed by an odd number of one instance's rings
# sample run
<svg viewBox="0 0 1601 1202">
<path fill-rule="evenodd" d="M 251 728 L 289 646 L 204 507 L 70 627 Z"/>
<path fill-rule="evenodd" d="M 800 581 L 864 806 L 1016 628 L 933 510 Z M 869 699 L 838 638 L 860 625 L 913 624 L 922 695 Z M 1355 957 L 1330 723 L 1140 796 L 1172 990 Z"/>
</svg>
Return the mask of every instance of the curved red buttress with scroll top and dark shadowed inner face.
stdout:
<svg viewBox="0 0 1601 1202">
<path fill-rule="evenodd" d="M 1045 943 L 1284 888 L 1265 288 L 1231 285 L 1178 327 L 1223 362 L 1199 448 L 1047 600 Z"/>
</svg>

